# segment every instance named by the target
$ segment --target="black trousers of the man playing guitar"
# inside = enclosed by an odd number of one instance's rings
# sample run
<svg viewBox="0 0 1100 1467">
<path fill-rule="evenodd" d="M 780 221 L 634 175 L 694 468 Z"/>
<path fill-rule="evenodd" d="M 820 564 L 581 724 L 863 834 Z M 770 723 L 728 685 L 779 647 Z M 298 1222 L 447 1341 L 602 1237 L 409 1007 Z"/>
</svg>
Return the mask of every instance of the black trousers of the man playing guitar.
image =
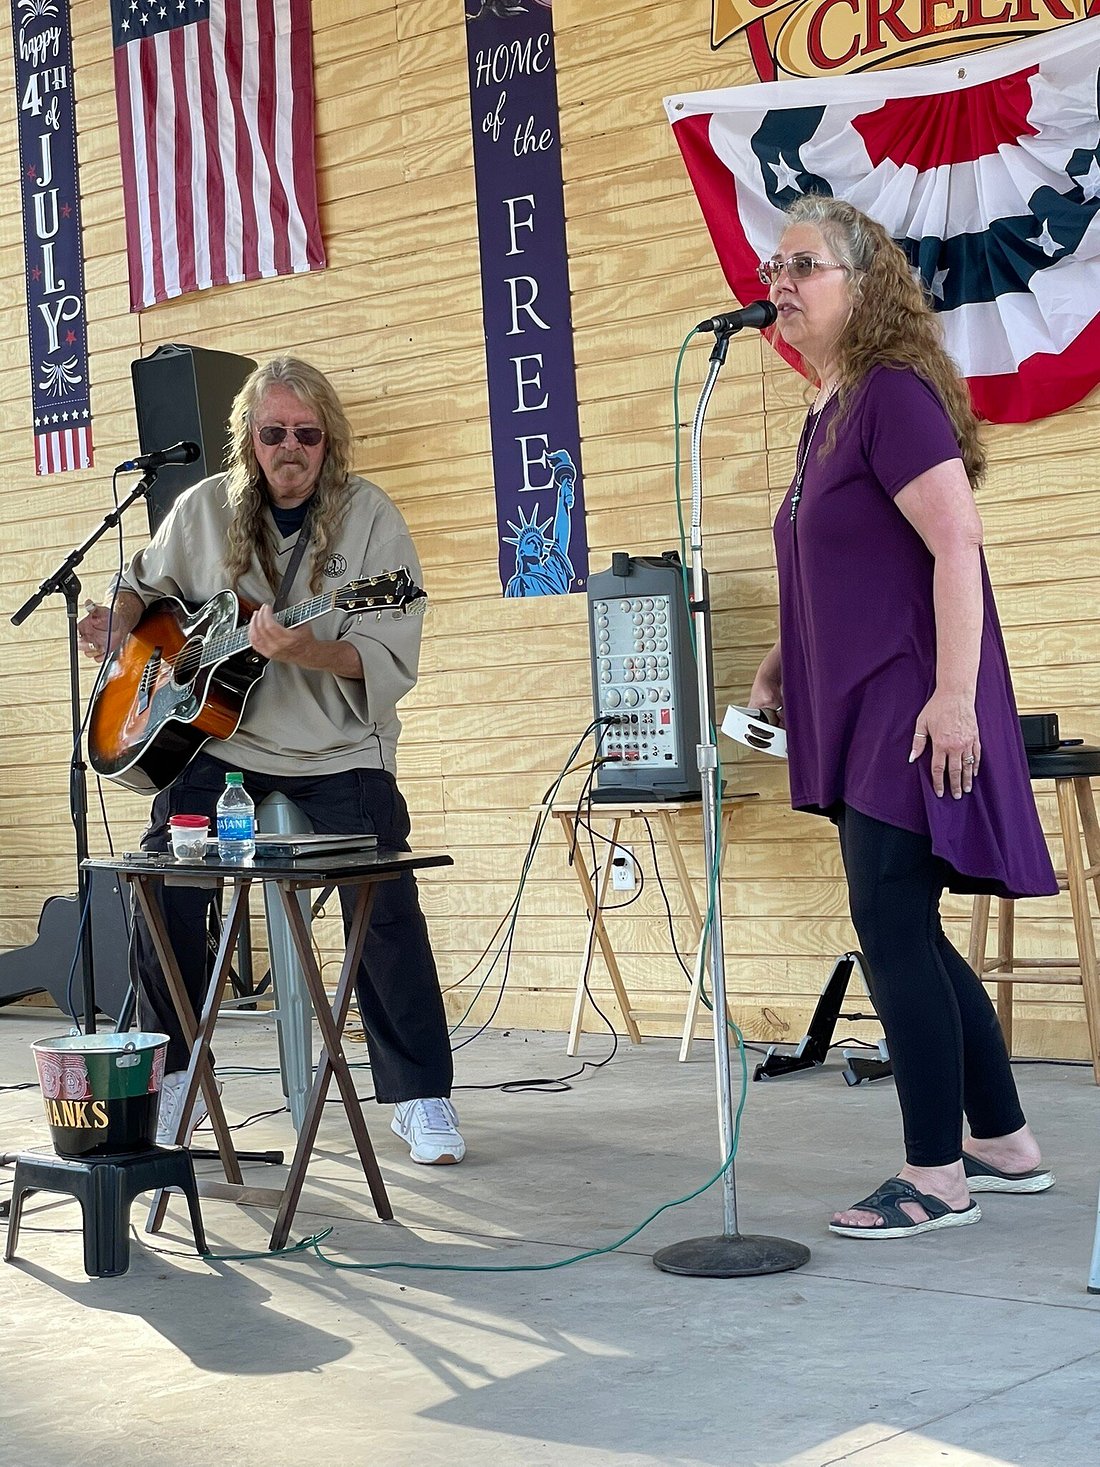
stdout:
<svg viewBox="0 0 1100 1467">
<path fill-rule="evenodd" d="M 173 814 L 208 816 L 213 829 L 214 807 L 226 788 L 229 767 L 199 751 L 179 779 L 153 801 L 142 849 L 169 849 L 169 817 Z M 243 775 L 245 789 L 257 804 L 279 791 L 321 835 L 373 830 L 381 846 L 409 849 L 409 811 L 393 775 L 386 770 L 353 769 L 343 775 L 293 779 L 249 770 Z M 205 932 L 213 892 L 157 883 L 157 893 L 188 996 L 198 1012 L 211 971 Z M 355 889 L 342 889 L 345 930 L 353 902 Z M 135 912 L 132 955 L 139 1022 L 142 1028 L 169 1036 L 167 1069 L 183 1069 L 188 1046 L 139 911 Z M 393 1103 L 449 1096 L 453 1065 L 447 1021 L 412 871 L 375 886 L 356 995 L 377 1099 Z"/>
</svg>

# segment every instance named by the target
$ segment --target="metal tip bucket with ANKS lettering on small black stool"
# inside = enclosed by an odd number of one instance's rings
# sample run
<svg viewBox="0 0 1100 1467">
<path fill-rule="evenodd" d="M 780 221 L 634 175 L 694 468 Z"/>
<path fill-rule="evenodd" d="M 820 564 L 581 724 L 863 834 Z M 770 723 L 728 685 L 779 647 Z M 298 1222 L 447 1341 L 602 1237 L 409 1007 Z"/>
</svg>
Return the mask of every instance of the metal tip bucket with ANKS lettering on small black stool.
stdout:
<svg viewBox="0 0 1100 1467">
<path fill-rule="evenodd" d="M 167 1034 L 63 1034 L 31 1045 L 59 1156 L 155 1146 Z"/>
</svg>

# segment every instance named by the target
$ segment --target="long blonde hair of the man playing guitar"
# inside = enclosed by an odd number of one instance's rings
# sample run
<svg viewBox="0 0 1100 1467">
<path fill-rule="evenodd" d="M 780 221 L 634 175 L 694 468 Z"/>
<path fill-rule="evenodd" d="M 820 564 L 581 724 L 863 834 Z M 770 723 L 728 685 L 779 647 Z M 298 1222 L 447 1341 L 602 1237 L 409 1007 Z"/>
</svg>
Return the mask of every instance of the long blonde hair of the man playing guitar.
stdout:
<svg viewBox="0 0 1100 1467">
<path fill-rule="evenodd" d="M 314 409 L 324 428 L 324 461 L 309 515 L 309 553 L 312 557 L 309 590 L 317 596 L 321 590 L 321 572 L 329 559 L 329 549 L 348 512 L 352 425 L 324 373 L 296 356 L 276 356 L 263 367 L 257 367 L 233 399 L 229 415 L 229 471 L 226 475 L 226 491 L 233 508 L 233 519 L 229 525 L 226 566 L 230 582 L 236 588 L 255 553 L 271 588 L 279 587 L 274 535 L 264 513 L 267 493 L 252 447 L 254 414 L 271 387 L 289 389 L 301 402 Z"/>
</svg>

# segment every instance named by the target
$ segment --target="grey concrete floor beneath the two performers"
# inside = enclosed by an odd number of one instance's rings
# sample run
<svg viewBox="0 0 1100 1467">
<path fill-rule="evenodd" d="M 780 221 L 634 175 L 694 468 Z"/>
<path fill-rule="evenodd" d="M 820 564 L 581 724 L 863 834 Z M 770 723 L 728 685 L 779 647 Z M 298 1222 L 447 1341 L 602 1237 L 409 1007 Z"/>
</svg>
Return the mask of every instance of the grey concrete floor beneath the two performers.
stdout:
<svg viewBox="0 0 1100 1467">
<path fill-rule="evenodd" d="M 31 1078 L 28 1043 L 62 1028 L 0 1014 L 3 1081 Z M 230 1121 L 279 1103 L 274 1075 L 233 1074 L 271 1064 L 265 1022 L 223 1024 L 217 1050 Z M 606 1050 L 585 1040 L 588 1058 Z M 458 1083 L 569 1068 L 557 1034 L 491 1033 L 461 1050 Z M 204 1262 L 188 1256 L 175 1201 L 166 1251 L 135 1243 L 119 1279 L 84 1273 L 75 1203 L 40 1194 L 16 1263 L 0 1265 L 0 1463 L 1097 1463 L 1100 1297 L 1085 1279 L 1100 1091 L 1082 1068 L 1018 1075 L 1057 1187 L 987 1197 L 977 1226 L 901 1243 L 824 1226 L 899 1163 L 892 1083 L 849 1089 L 837 1059 L 751 1086 L 741 1229 L 813 1250 L 799 1272 L 770 1278 L 653 1267 L 659 1245 L 722 1229 L 717 1188 L 616 1253 L 516 1273 L 342 1272 L 314 1253 Z M 358 1078 L 367 1091 L 368 1072 Z M 326 1254 L 355 1265 L 544 1265 L 612 1243 L 713 1175 L 713 1096 L 710 1046 L 679 1065 L 672 1042 L 622 1046 L 557 1094 L 459 1090 L 469 1156 L 458 1168 L 412 1165 L 371 1106 L 389 1225 L 371 1221 L 333 1106 L 293 1237 L 331 1226 Z M 243 1137 L 289 1149 L 289 1118 Z M 45 1140 L 37 1090 L 0 1093 L 0 1152 Z M 0 1178 L 7 1196 L 10 1172 Z M 264 1248 L 267 1215 L 207 1201 L 204 1216 L 217 1253 Z"/>
</svg>

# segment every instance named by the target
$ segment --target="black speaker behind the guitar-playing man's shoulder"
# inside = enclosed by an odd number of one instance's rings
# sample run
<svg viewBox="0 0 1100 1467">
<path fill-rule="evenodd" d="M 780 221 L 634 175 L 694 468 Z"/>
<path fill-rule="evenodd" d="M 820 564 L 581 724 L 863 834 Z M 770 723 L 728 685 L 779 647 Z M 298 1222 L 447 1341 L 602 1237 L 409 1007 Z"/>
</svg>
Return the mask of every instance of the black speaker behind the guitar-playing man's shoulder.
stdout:
<svg viewBox="0 0 1100 1467">
<path fill-rule="evenodd" d="M 198 443 L 194 464 L 166 464 L 147 496 L 154 533 L 185 489 L 226 467 L 226 439 L 233 398 L 254 371 L 251 356 L 208 352 L 202 346 L 158 346 L 131 362 L 138 442 L 142 453 Z"/>
</svg>

